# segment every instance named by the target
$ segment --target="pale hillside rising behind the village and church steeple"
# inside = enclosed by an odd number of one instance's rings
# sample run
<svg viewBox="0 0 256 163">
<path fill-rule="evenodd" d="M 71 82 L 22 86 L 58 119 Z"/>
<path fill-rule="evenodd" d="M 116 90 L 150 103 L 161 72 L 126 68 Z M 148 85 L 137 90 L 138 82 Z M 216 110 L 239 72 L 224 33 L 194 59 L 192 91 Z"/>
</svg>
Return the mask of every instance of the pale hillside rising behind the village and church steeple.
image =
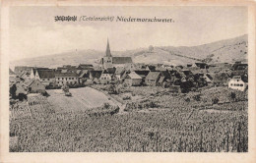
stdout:
<svg viewBox="0 0 256 163">
<path fill-rule="evenodd" d="M 147 47 L 127 51 L 111 51 L 111 53 L 113 56 L 131 56 L 135 63 L 183 65 L 199 61 L 208 63 L 247 61 L 247 51 L 248 35 L 246 34 L 199 46 L 161 46 L 154 47 L 151 52 Z M 13 61 L 10 66 L 57 67 L 67 64 L 79 65 L 81 63 L 96 65 L 102 56 L 104 56 L 104 51 L 78 50 Z"/>
</svg>

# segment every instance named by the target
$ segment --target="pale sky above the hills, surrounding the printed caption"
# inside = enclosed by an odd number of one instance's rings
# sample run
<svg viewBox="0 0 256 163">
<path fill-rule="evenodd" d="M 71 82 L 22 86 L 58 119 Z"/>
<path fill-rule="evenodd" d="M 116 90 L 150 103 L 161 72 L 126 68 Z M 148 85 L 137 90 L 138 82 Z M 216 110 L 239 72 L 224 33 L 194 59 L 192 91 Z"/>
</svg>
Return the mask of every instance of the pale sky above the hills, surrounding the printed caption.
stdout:
<svg viewBox="0 0 256 163">
<path fill-rule="evenodd" d="M 11 7 L 10 60 L 67 51 L 196 46 L 246 34 L 246 7 Z M 55 16 L 172 19 L 173 23 L 55 22 Z"/>
</svg>

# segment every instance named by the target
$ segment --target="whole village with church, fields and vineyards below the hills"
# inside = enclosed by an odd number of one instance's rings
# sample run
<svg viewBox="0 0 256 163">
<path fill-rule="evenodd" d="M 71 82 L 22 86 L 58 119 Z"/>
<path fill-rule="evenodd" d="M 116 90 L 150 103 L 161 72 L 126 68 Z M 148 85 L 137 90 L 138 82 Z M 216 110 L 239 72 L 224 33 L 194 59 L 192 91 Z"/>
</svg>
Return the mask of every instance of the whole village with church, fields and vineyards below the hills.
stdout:
<svg viewBox="0 0 256 163">
<path fill-rule="evenodd" d="M 9 74 L 10 151 L 248 150 L 247 63 L 133 63 L 107 40 L 97 65 Z"/>
</svg>

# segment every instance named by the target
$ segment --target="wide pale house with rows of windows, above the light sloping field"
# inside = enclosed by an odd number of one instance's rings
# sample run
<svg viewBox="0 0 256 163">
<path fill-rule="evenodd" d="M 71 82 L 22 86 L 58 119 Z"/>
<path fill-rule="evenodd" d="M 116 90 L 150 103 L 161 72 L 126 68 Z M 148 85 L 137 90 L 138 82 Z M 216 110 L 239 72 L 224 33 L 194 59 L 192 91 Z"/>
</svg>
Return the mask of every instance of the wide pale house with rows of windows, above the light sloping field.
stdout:
<svg viewBox="0 0 256 163">
<path fill-rule="evenodd" d="M 56 73 L 55 81 L 58 86 L 73 85 L 79 83 L 79 77 L 76 73 Z"/>
</svg>

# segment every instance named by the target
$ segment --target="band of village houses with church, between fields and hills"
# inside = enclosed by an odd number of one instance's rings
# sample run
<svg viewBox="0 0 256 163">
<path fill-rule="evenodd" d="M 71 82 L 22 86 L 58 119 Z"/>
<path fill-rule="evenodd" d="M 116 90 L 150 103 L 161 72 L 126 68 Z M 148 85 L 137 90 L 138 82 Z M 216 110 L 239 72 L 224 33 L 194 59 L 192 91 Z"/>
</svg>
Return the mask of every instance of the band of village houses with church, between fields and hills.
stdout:
<svg viewBox="0 0 256 163">
<path fill-rule="evenodd" d="M 10 87 L 17 90 L 44 92 L 45 88 L 86 83 L 123 83 L 127 86 L 204 86 L 226 85 L 243 91 L 248 82 L 248 65 L 235 62 L 208 65 L 194 63 L 183 66 L 163 64 L 135 64 L 131 57 L 113 57 L 107 40 L 105 56 L 96 67 L 91 64 L 64 65 L 56 69 L 17 66 L 9 70 Z M 21 90 L 20 90 L 21 89 Z M 18 93 L 19 93 L 18 91 Z"/>
</svg>

